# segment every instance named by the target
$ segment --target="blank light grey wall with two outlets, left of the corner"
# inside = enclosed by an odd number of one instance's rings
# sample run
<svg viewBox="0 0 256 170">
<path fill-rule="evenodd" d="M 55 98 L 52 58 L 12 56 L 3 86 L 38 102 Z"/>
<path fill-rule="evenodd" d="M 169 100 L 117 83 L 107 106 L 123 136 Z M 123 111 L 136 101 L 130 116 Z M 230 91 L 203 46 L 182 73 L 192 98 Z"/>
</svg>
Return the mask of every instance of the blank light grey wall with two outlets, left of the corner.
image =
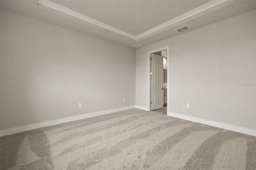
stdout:
<svg viewBox="0 0 256 170">
<path fill-rule="evenodd" d="M 1 10 L 1 130 L 130 105 L 135 49 Z"/>
</svg>

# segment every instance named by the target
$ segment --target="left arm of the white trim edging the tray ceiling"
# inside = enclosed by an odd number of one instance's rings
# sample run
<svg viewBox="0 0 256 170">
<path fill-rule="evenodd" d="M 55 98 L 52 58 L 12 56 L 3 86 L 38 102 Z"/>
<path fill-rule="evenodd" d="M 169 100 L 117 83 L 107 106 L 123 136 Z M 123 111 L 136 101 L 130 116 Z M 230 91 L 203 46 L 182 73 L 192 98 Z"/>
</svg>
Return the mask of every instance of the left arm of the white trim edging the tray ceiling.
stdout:
<svg viewBox="0 0 256 170">
<path fill-rule="evenodd" d="M 61 6 L 61 5 L 59 5 L 55 2 L 52 2 L 50 0 L 38 0 L 37 3 L 38 3 L 37 4 L 38 7 L 43 8 L 45 10 L 50 10 L 51 12 L 55 12 L 55 13 L 58 12 L 58 14 L 60 14 L 60 12 L 61 12 L 62 15 L 64 14 L 64 15 L 72 16 L 72 17 L 80 19 L 84 22 L 94 24 L 94 25 L 99 26 L 101 28 L 105 28 L 106 30 L 110 30 L 112 32 L 115 32 L 117 34 L 120 34 L 122 36 L 126 36 L 128 38 L 131 38 L 131 39 L 135 40 L 135 36 L 132 35 L 132 34 L 129 34 L 127 32 L 119 30 L 118 28 L 112 27 L 112 26 L 110 26 L 108 24 L 105 24 L 103 22 L 100 22 L 98 20 L 94 20 L 93 18 L 90 18 L 88 16 L 80 14 L 80 13 L 74 11 L 74 10 L 70 10 L 69 8 Z"/>
</svg>

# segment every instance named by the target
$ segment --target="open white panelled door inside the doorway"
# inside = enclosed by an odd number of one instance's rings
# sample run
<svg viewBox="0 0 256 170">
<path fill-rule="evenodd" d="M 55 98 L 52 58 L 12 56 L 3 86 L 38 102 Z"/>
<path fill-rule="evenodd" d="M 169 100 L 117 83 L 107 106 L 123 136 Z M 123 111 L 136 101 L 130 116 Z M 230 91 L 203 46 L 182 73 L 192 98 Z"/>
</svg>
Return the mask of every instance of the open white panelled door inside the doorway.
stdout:
<svg viewBox="0 0 256 170">
<path fill-rule="evenodd" d="M 151 74 L 151 110 L 161 109 L 164 107 L 164 68 L 161 55 L 151 54 Z"/>
</svg>

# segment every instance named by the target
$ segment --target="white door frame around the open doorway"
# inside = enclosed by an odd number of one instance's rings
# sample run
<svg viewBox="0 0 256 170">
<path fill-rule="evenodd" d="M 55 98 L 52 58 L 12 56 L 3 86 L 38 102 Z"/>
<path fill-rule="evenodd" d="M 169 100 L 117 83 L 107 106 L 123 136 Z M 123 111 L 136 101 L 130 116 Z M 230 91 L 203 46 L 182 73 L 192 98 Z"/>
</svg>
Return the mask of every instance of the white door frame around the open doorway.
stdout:
<svg viewBox="0 0 256 170">
<path fill-rule="evenodd" d="M 169 74 L 168 74 L 168 70 L 169 70 L 169 64 L 168 64 L 168 60 L 169 60 L 169 46 L 167 47 L 162 47 L 162 48 L 158 48 L 158 49 L 155 49 L 155 50 L 152 50 L 152 51 L 148 51 L 148 111 L 151 111 L 151 105 L 150 105 L 150 100 L 151 100 L 151 89 L 150 89 L 150 84 L 151 84 L 151 60 L 150 60 L 150 57 L 151 57 L 151 54 L 152 53 L 156 53 L 158 51 L 163 51 L 167 49 L 167 114 L 168 114 L 168 108 L 169 108 L 169 105 L 168 105 L 168 94 L 169 94 Z"/>
</svg>

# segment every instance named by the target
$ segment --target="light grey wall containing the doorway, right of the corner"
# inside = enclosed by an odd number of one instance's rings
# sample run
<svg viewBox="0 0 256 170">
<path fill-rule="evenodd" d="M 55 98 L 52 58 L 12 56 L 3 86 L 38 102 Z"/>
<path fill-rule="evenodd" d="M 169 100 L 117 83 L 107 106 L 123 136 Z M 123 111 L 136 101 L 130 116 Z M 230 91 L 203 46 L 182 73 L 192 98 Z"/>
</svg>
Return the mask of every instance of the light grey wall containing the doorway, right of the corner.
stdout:
<svg viewBox="0 0 256 170">
<path fill-rule="evenodd" d="M 256 129 L 256 11 L 136 49 L 136 106 L 148 107 L 148 51 L 169 46 L 170 113 Z M 190 103 L 190 109 L 186 108 Z"/>
</svg>

